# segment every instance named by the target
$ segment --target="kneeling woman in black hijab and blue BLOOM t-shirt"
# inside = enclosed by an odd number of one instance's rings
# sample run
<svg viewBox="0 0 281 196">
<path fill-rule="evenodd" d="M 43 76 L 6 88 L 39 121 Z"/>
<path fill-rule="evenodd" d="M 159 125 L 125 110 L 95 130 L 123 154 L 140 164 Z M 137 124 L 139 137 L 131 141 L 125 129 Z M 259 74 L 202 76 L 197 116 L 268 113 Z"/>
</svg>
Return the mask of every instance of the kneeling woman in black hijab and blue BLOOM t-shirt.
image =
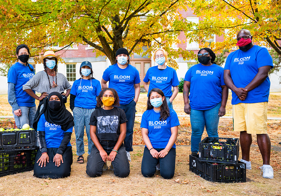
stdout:
<svg viewBox="0 0 281 196">
<path fill-rule="evenodd" d="M 70 176 L 72 147 L 70 144 L 73 116 L 65 108 L 58 92 L 49 94 L 33 127 L 38 132 L 38 151 L 33 176 L 63 178 Z"/>
</svg>

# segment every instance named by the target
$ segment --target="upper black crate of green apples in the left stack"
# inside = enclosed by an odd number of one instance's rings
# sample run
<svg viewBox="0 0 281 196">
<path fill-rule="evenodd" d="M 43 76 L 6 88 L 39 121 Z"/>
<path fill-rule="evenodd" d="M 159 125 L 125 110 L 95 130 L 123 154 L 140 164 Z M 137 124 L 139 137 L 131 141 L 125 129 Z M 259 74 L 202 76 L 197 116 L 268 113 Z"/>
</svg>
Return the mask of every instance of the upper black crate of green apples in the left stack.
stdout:
<svg viewBox="0 0 281 196">
<path fill-rule="evenodd" d="M 0 152 L 35 148 L 35 130 L 1 131 Z"/>
</svg>

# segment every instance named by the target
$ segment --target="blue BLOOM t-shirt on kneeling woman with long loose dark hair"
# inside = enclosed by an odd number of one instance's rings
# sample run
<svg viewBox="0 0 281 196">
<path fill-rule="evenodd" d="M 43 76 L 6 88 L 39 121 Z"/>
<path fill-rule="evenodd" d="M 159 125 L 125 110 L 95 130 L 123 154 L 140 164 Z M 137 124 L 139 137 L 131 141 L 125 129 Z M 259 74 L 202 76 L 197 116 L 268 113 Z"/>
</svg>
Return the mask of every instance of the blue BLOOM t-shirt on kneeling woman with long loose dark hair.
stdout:
<svg viewBox="0 0 281 196">
<path fill-rule="evenodd" d="M 173 109 L 170 109 L 170 116 L 166 120 L 160 121 L 159 118 L 159 112 L 153 109 L 146 110 L 141 118 L 140 127 L 148 129 L 148 138 L 153 148 L 166 148 L 172 135 L 171 127 L 180 125 L 179 118 Z M 172 148 L 176 148 L 176 145 L 174 144 Z"/>
</svg>

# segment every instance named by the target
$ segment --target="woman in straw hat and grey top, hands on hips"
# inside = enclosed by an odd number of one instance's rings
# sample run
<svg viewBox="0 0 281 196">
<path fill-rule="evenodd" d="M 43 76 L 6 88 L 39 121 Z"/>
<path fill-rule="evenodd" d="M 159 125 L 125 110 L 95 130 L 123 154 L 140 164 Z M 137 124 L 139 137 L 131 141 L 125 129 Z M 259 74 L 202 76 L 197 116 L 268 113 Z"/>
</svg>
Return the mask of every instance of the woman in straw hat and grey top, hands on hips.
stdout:
<svg viewBox="0 0 281 196">
<path fill-rule="evenodd" d="M 22 86 L 22 89 L 31 97 L 40 100 L 38 108 L 43 104 L 43 99 L 51 92 L 58 92 L 65 96 L 70 94 L 70 83 L 62 73 L 56 72 L 59 56 L 60 54 L 55 55 L 54 51 L 46 51 L 44 55 L 39 55 L 40 61 L 44 64 L 44 70 L 36 73 L 31 80 Z M 35 95 L 33 90 L 41 93 L 41 96 Z M 66 93 L 64 93 L 65 90 Z M 36 112 L 35 117 L 38 116 L 39 112 L 40 110 Z"/>
</svg>

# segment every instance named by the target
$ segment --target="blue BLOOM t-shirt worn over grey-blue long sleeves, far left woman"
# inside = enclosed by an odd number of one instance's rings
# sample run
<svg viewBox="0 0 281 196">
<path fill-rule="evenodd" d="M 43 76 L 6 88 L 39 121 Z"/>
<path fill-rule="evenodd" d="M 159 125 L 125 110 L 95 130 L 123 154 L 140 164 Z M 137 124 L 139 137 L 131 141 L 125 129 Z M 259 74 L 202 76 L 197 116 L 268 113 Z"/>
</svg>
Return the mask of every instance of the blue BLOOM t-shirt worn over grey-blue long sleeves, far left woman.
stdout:
<svg viewBox="0 0 281 196">
<path fill-rule="evenodd" d="M 33 68 L 31 64 L 29 66 Z M 15 95 L 17 100 L 17 105 L 34 107 L 35 99 L 22 90 L 22 85 L 26 84 L 34 76 L 34 71 L 32 72 L 28 66 L 16 62 L 8 71 L 8 82 L 15 84 Z M 33 91 L 35 93 L 35 91 Z"/>
</svg>

